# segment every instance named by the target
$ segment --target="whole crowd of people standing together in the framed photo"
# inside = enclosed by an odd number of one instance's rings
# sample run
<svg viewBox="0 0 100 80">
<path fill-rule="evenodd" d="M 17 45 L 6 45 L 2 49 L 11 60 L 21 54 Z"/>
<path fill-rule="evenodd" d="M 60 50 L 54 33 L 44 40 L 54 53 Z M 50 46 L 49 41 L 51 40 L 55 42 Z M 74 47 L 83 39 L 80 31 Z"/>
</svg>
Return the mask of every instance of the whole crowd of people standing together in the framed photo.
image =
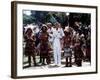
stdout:
<svg viewBox="0 0 100 80">
<path fill-rule="evenodd" d="M 91 62 L 91 30 L 86 26 L 75 22 L 73 27 L 56 22 L 42 24 L 37 33 L 35 29 L 27 28 L 24 31 L 24 55 L 28 57 L 29 66 L 33 59 L 34 66 L 50 65 L 61 66 L 62 57 L 66 60 L 65 67 L 71 67 L 72 56 L 77 66 L 82 66 L 82 61 Z M 63 51 L 63 52 L 62 52 Z M 39 56 L 39 62 L 36 56 Z"/>
</svg>

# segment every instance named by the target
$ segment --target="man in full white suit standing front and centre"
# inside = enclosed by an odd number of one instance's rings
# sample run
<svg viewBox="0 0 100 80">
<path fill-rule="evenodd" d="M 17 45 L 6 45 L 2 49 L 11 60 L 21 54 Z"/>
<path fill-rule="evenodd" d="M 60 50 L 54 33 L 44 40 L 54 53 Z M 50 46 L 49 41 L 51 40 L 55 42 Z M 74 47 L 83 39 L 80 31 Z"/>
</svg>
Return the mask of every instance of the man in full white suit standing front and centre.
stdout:
<svg viewBox="0 0 100 80">
<path fill-rule="evenodd" d="M 54 63 L 57 66 L 61 65 L 61 42 L 60 40 L 64 36 L 64 32 L 59 23 L 55 23 L 55 27 L 52 29 L 53 32 L 53 52 L 54 52 Z"/>
</svg>

